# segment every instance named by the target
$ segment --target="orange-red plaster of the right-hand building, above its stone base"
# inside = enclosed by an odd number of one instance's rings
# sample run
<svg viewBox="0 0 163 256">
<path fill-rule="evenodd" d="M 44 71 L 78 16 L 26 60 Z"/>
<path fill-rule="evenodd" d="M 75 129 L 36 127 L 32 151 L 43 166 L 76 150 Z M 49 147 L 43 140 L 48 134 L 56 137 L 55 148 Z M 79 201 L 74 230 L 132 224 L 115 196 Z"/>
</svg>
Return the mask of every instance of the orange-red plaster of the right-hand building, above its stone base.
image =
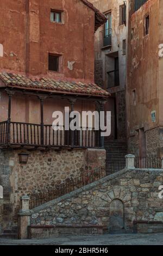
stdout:
<svg viewBox="0 0 163 256">
<path fill-rule="evenodd" d="M 133 2 L 133 1 L 130 1 Z M 145 17 L 149 14 L 149 34 L 145 35 Z M 128 135 L 135 129 L 153 129 L 159 125 L 159 8 L 158 0 L 149 0 L 129 18 L 128 33 Z M 133 37 L 131 38 L 131 34 Z M 133 103 L 132 90 L 136 90 Z M 151 112 L 156 111 L 152 123 Z"/>
</svg>

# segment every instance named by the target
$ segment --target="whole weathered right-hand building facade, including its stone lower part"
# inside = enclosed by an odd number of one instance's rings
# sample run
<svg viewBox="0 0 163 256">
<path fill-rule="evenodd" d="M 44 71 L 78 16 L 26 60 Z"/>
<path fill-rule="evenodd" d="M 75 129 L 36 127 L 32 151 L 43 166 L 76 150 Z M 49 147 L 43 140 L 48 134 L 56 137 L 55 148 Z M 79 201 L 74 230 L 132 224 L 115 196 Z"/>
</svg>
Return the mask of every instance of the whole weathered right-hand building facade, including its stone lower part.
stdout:
<svg viewBox="0 0 163 256">
<path fill-rule="evenodd" d="M 162 1 L 148 0 L 135 12 L 129 1 L 128 147 L 142 157 L 162 156 L 162 19 Z"/>
</svg>

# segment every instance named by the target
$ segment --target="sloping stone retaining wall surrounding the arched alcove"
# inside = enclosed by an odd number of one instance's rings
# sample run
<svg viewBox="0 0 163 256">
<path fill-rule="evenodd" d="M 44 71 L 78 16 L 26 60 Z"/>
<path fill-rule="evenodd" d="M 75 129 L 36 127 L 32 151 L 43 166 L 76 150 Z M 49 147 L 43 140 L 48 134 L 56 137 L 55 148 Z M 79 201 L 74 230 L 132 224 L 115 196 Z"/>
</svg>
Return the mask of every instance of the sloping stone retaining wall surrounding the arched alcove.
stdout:
<svg viewBox="0 0 163 256">
<path fill-rule="evenodd" d="M 110 228 L 121 215 L 123 229 L 133 231 L 134 220 L 157 221 L 163 216 L 162 184 L 163 170 L 124 169 L 33 209 L 30 222 L 37 227 L 94 224 Z M 114 204 L 117 209 L 112 208 Z"/>
</svg>

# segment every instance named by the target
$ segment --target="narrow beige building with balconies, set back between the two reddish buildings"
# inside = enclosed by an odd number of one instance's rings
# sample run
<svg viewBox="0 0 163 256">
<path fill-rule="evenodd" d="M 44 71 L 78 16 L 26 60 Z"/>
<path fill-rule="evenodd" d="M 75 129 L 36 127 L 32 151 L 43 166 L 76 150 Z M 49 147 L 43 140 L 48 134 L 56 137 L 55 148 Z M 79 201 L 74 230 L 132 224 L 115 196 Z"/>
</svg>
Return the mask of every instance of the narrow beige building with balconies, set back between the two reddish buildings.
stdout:
<svg viewBox="0 0 163 256">
<path fill-rule="evenodd" d="M 95 36 L 95 81 L 111 94 L 105 108 L 111 111 L 111 136 L 105 139 L 108 164 L 123 162 L 126 131 L 126 8 L 128 2 L 91 1 L 108 21 Z"/>
</svg>

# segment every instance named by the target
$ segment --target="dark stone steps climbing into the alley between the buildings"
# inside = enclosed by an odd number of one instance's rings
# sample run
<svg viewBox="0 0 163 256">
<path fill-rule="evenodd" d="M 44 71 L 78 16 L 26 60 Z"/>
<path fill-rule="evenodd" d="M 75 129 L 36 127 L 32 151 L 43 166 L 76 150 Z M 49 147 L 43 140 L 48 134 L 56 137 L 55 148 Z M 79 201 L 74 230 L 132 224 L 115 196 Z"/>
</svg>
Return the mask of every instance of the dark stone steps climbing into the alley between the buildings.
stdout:
<svg viewBox="0 0 163 256">
<path fill-rule="evenodd" d="M 118 140 L 106 140 L 105 141 L 106 150 L 106 173 L 110 173 L 110 166 L 117 163 L 125 166 L 125 158 L 127 155 L 127 142 Z"/>
</svg>

